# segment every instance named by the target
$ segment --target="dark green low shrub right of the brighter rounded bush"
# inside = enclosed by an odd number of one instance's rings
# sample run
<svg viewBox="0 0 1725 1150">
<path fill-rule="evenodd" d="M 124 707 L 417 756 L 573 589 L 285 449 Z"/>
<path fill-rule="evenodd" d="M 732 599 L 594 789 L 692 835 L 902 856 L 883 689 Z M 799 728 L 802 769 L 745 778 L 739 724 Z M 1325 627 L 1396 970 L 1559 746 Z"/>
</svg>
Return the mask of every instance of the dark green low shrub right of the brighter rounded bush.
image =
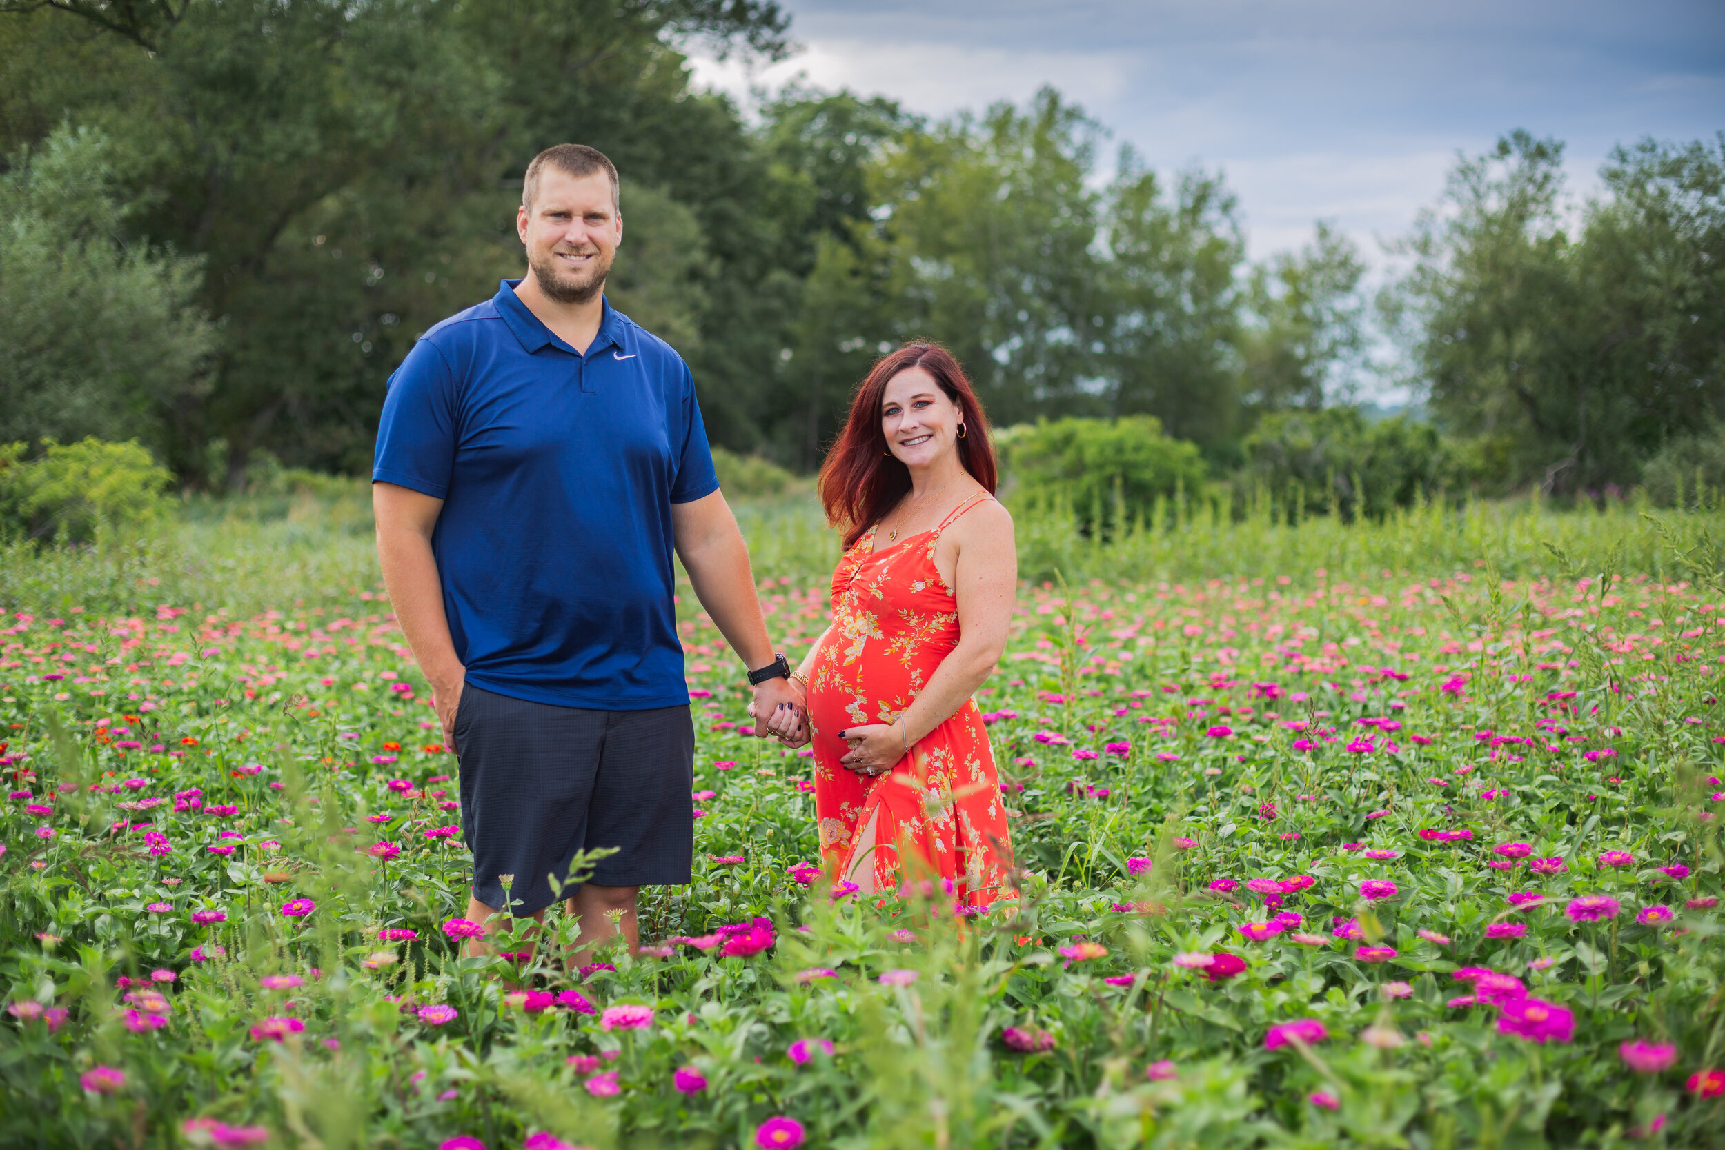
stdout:
<svg viewBox="0 0 1725 1150">
<path fill-rule="evenodd" d="M 1264 416 L 1244 450 L 1244 478 L 1306 516 L 1382 519 L 1392 507 L 1459 495 L 1470 476 L 1463 448 L 1437 428 L 1402 416 L 1368 422 L 1352 407 Z"/>
</svg>

